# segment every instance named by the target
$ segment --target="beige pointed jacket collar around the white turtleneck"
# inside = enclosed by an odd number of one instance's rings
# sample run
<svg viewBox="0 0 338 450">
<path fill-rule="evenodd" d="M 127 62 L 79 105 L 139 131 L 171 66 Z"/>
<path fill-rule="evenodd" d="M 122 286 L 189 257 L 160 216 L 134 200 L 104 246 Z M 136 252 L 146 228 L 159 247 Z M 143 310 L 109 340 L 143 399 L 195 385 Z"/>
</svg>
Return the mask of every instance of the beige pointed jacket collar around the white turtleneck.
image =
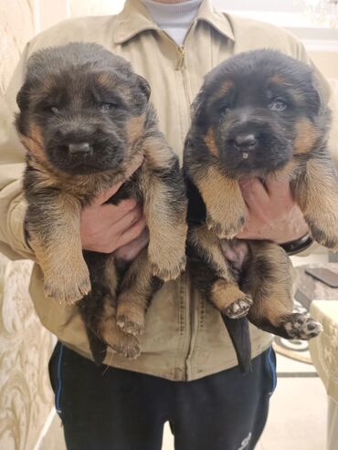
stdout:
<svg viewBox="0 0 338 450">
<path fill-rule="evenodd" d="M 116 44 L 123 44 L 146 30 L 160 31 L 159 26 L 153 22 L 141 0 L 126 0 L 121 13 L 116 19 L 116 30 L 114 33 Z M 235 40 L 227 16 L 215 11 L 211 5 L 211 0 L 202 1 L 197 12 L 196 22 L 205 22 L 222 36 L 233 41 Z"/>
</svg>

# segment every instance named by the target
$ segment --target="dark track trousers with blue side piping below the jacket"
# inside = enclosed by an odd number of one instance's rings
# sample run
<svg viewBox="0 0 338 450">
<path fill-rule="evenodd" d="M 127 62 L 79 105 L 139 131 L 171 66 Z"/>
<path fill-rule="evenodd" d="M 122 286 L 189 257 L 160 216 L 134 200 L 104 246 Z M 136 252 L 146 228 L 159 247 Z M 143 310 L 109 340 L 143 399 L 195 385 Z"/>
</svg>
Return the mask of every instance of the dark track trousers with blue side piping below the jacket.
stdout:
<svg viewBox="0 0 338 450">
<path fill-rule="evenodd" d="M 252 450 L 276 383 L 272 349 L 194 382 L 97 367 L 58 343 L 49 362 L 69 450 L 161 450 L 169 421 L 176 450 Z"/>
</svg>

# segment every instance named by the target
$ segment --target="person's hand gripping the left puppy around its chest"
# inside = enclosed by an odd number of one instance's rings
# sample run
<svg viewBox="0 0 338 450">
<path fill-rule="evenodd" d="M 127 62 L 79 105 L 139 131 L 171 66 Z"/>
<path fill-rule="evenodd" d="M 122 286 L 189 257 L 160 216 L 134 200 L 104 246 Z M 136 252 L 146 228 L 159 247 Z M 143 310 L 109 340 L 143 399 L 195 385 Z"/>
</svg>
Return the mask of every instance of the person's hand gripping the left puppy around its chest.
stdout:
<svg viewBox="0 0 338 450">
<path fill-rule="evenodd" d="M 130 174 L 138 167 L 133 167 Z M 149 236 L 143 210 L 135 200 L 105 204 L 121 184 L 114 184 L 82 210 L 79 233 L 85 250 L 115 252 L 117 257 L 132 260 L 148 244 Z"/>
</svg>

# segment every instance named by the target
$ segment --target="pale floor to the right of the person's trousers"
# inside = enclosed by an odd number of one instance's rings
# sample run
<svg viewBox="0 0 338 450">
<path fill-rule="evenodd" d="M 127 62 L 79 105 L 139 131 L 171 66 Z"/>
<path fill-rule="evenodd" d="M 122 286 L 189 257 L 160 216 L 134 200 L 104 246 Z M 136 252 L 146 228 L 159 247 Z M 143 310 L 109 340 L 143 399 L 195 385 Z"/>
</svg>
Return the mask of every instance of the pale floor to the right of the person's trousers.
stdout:
<svg viewBox="0 0 338 450">
<path fill-rule="evenodd" d="M 319 378 L 305 378 L 311 372 L 316 375 L 312 366 L 305 366 L 278 357 L 283 377 L 272 395 L 268 424 L 256 450 L 325 449 L 326 392 Z M 298 376 L 292 376 L 293 371 Z"/>
</svg>

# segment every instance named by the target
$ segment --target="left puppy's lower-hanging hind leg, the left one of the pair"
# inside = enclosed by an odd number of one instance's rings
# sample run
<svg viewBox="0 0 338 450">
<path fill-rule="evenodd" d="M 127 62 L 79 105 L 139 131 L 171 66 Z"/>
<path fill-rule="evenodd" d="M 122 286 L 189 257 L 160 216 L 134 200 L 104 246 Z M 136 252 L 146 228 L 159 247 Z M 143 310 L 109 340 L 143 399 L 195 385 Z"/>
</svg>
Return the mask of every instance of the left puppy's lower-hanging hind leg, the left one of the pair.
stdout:
<svg viewBox="0 0 338 450">
<path fill-rule="evenodd" d="M 140 355 L 138 340 L 123 333 L 116 322 L 118 277 L 113 256 L 86 252 L 85 258 L 90 267 L 92 290 L 79 302 L 79 311 L 94 361 L 102 363 L 107 345 L 126 358 L 137 358 Z"/>
</svg>

